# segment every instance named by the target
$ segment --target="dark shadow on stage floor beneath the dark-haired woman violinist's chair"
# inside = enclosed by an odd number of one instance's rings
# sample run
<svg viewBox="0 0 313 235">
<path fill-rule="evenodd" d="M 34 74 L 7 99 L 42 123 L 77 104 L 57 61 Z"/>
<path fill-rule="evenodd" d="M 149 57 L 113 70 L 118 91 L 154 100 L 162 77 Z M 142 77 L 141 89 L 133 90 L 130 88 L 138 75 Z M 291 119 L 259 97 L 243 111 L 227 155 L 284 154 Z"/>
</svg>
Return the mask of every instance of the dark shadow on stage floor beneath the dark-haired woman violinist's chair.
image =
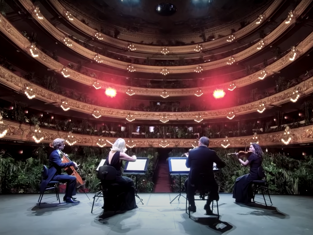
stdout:
<svg viewBox="0 0 313 235">
<path fill-rule="evenodd" d="M 241 207 L 246 208 L 255 208 L 255 211 L 249 212 L 249 213 L 238 213 L 239 215 L 256 215 L 256 216 L 273 216 L 280 219 L 289 219 L 290 216 L 280 212 L 275 206 L 265 206 L 263 204 L 259 203 L 249 203 L 249 204 L 242 204 L 242 203 L 236 203 L 237 205 Z"/>
</svg>

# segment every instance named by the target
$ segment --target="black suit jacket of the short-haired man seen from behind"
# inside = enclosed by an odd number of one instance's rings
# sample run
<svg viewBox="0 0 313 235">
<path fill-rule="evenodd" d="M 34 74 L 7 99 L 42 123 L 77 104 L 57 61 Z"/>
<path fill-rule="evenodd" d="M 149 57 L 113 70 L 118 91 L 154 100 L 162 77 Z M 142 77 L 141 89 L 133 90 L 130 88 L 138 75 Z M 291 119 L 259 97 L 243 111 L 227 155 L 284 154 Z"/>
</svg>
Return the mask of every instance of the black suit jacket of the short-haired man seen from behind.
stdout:
<svg viewBox="0 0 313 235">
<path fill-rule="evenodd" d="M 192 170 L 195 168 L 205 171 L 208 175 L 211 175 L 214 178 L 214 162 L 216 163 L 217 168 L 225 167 L 225 163 L 216 155 L 214 150 L 211 150 L 204 145 L 201 145 L 196 149 L 191 149 L 186 161 L 186 166 L 190 168 L 189 178 Z"/>
</svg>

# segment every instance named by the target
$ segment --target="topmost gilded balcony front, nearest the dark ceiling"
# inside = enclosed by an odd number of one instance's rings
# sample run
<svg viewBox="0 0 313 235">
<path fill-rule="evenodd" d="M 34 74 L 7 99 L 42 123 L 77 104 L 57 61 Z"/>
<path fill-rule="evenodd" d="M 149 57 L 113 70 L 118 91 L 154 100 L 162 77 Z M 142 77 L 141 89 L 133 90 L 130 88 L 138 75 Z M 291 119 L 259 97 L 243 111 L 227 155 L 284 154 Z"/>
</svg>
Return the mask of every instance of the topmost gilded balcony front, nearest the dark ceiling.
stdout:
<svg viewBox="0 0 313 235">
<path fill-rule="evenodd" d="M 274 1 L 274 3 L 272 3 L 269 6 L 269 8 L 267 8 L 262 14 L 263 16 L 262 20 L 266 21 L 269 18 L 269 16 L 280 6 L 280 3 L 282 2 L 283 0 Z M 59 14 L 67 18 L 66 13 L 68 11 L 71 11 L 70 9 L 65 8 L 58 0 L 50 0 L 50 3 L 52 3 L 52 5 L 59 12 Z M 72 18 L 73 20 L 70 20 L 70 23 L 73 24 L 77 29 L 80 29 L 81 31 L 83 31 L 85 34 L 95 37 L 96 33 L 98 33 L 95 29 L 82 23 L 79 19 L 75 17 L 72 17 Z M 260 24 L 256 23 L 257 21 L 258 19 L 255 19 L 252 23 L 250 23 L 243 29 L 238 30 L 233 35 L 235 35 L 236 39 L 244 37 L 245 35 L 249 34 L 251 31 L 255 30 L 257 27 L 260 26 Z M 101 34 L 101 37 L 102 37 L 101 41 L 107 44 L 116 46 L 116 47 L 127 48 L 129 44 L 129 42 L 126 42 L 120 39 L 115 39 L 105 34 Z M 228 39 L 228 35 L 223 38 L 215 39 L 210 42 L 201 43 L 202 50 L 208 50 L 214 47 L 228 44 L 227 39 Z M 143 44 L 136 44 L 136 43 L 132 43 L 132 45 L 134 45 L 134 47 L 136 48 L 136 51 L 139 51 L 139 52 L 155 53 L 156 51 L 159 51 L 161 48 L 161 46 L 150 46 L 150 45 L 143 45 Z M 197 45 L 198 43 L 194 45 L 187 45 L 187 46 L 169 46 L 168 49 L 174 54 L 175 53 L 177 54 L 190 53 L 190 52 L 195 52 L 195 48 Z"/>
</svg>

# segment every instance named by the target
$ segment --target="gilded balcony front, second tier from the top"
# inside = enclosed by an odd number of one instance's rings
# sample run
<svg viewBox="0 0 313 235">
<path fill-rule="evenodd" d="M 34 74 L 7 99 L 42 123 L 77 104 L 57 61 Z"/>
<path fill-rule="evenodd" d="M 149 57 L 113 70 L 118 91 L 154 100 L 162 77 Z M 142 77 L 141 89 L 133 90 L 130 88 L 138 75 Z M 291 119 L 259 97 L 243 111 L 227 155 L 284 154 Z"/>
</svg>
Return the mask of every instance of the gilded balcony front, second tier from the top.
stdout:
<svg viewBox="0 0 313 235">
<path fill-rule="evenodd" d="M 33 11 L 35 6 L 30 0 L 19 0 L 23 6 L 28 10 L 30 14 L 38 21 L 39 24 L 41 24 L 42 27 L 44 27 L 52 36 L 54 36 L 56 39 L 58 39 L 60 42 L 64 43 L 64 37 L 67 37 L 67 35 L 61 33 L 54 25 L 52 25 L 46 18 L 40 18 L 36 16 L 36 13 Z M 302 0 L 299 5 L 295 8 L 295 16 L 290 20 L 290 23 L 292 24 L 295 22 L 297 16 L 300 16 L 301 13 L 306 9 L 306 7 L 311 3 L 312 0 Z M 285 22 L 282 22 L 276 29 L 274 29 L 270 34 L 268 34 L 264 40 L 267 42 L 267 44 L 270 44 L 274 40 L 276 40 L 286 29 L 290 27 L 291 24 L 285 24 Z M 215 41 L 215 40 L 214 40 Z M 74 50 L 76 53 L 79 53 L 86 58 L 89 58 L 90 60 L 93 60 L 95 58 L 95 52 L 88 50 L 87 48 L 81 46 L 80 44 L 76 43 L 75 41 L 69 39 L 69 42 L 71 44 L 70 49 Z M 249 56 L 253 55 L 254 53 L 258 52 L 257 49 L 259 47 L 259 42 L 254 44 L 253 46 L 247 48 L 244 51 L 241 51 L 235 55 L 233 55 L 234 58 L 236 58 L 236 61 L 244 60 L 248 58 Z M 194 49 L 194 48 L 193 48 Z M 228 58 L 224 58 L 221 60 L 216 60 L 208 63 L 202 64 L 203 70 L 211 70 L 223 67 L 227 65 L 227 62 L 229 61 Z M 109 57 L 105 57 L 102 55 L 102 64 L 109 65 L 115 68 L 127 70 L 129 63 L 114 60 Z M 162 70 L 162 66 L 150 66 L 150 65 L 136 65 L 136 71 L 137 72 L 144 72 L 144 73 L 160 73 Z M 185 66 L 171 66 L 171 74 L 179 74 L 179 73 L 190 73 L 194 72 L 194 65 L 185 65 Z"/>
</svg>

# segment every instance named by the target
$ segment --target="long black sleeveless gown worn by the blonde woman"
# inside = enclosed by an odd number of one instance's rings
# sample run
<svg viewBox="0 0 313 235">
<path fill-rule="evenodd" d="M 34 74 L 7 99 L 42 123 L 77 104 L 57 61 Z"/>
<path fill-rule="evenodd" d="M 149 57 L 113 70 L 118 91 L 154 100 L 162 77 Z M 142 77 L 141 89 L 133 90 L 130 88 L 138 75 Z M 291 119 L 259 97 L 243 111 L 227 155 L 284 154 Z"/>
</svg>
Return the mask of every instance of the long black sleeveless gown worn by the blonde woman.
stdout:
<svg viewBox="0 0 313 235">
<path fill-rule="evenodd" d="M 136 199 L 135 199 L 135 186 L 134 181 L 126 176 L 122 176 L 121 167 L 122 161 L 120 161 L 120 152 L 116 152 L 112 159 L 111 164 L 109 164 L 109 157 L 105 160 L 106 165 L 113 166 L 116 170 L 116 180 L 115 184 L 119 184 L 119 191 L 125 192 L 125 197 L 121 197 L 121 201 L 118 201 L 120 204 L 120 211 L 129 211 L 137 208 Z M 105 210 L 110 211 L 110 200 L 105 200 Z"/>
</svg>

